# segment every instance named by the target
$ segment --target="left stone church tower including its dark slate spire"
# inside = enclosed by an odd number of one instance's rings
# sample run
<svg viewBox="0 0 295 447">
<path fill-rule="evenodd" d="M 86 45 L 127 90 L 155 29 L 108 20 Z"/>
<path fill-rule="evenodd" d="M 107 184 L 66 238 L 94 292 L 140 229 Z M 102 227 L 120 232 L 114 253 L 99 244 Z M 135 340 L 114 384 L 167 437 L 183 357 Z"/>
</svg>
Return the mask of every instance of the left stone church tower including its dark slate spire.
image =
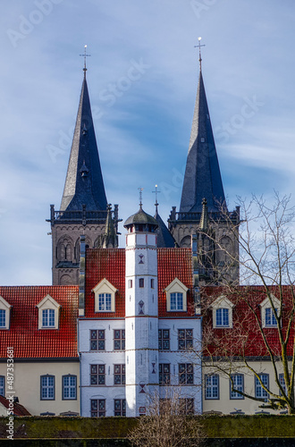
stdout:
<svg viewBox="0 0 295 447">
<path fill-rule="evenodd" d="M 53 284 L 78 284 L 80 235 L 86 246 L 118 246 L 118 206 L 107 204 L 92 121 L 86 66 L 59 211 L 51 205 Z"/>
</svg>

